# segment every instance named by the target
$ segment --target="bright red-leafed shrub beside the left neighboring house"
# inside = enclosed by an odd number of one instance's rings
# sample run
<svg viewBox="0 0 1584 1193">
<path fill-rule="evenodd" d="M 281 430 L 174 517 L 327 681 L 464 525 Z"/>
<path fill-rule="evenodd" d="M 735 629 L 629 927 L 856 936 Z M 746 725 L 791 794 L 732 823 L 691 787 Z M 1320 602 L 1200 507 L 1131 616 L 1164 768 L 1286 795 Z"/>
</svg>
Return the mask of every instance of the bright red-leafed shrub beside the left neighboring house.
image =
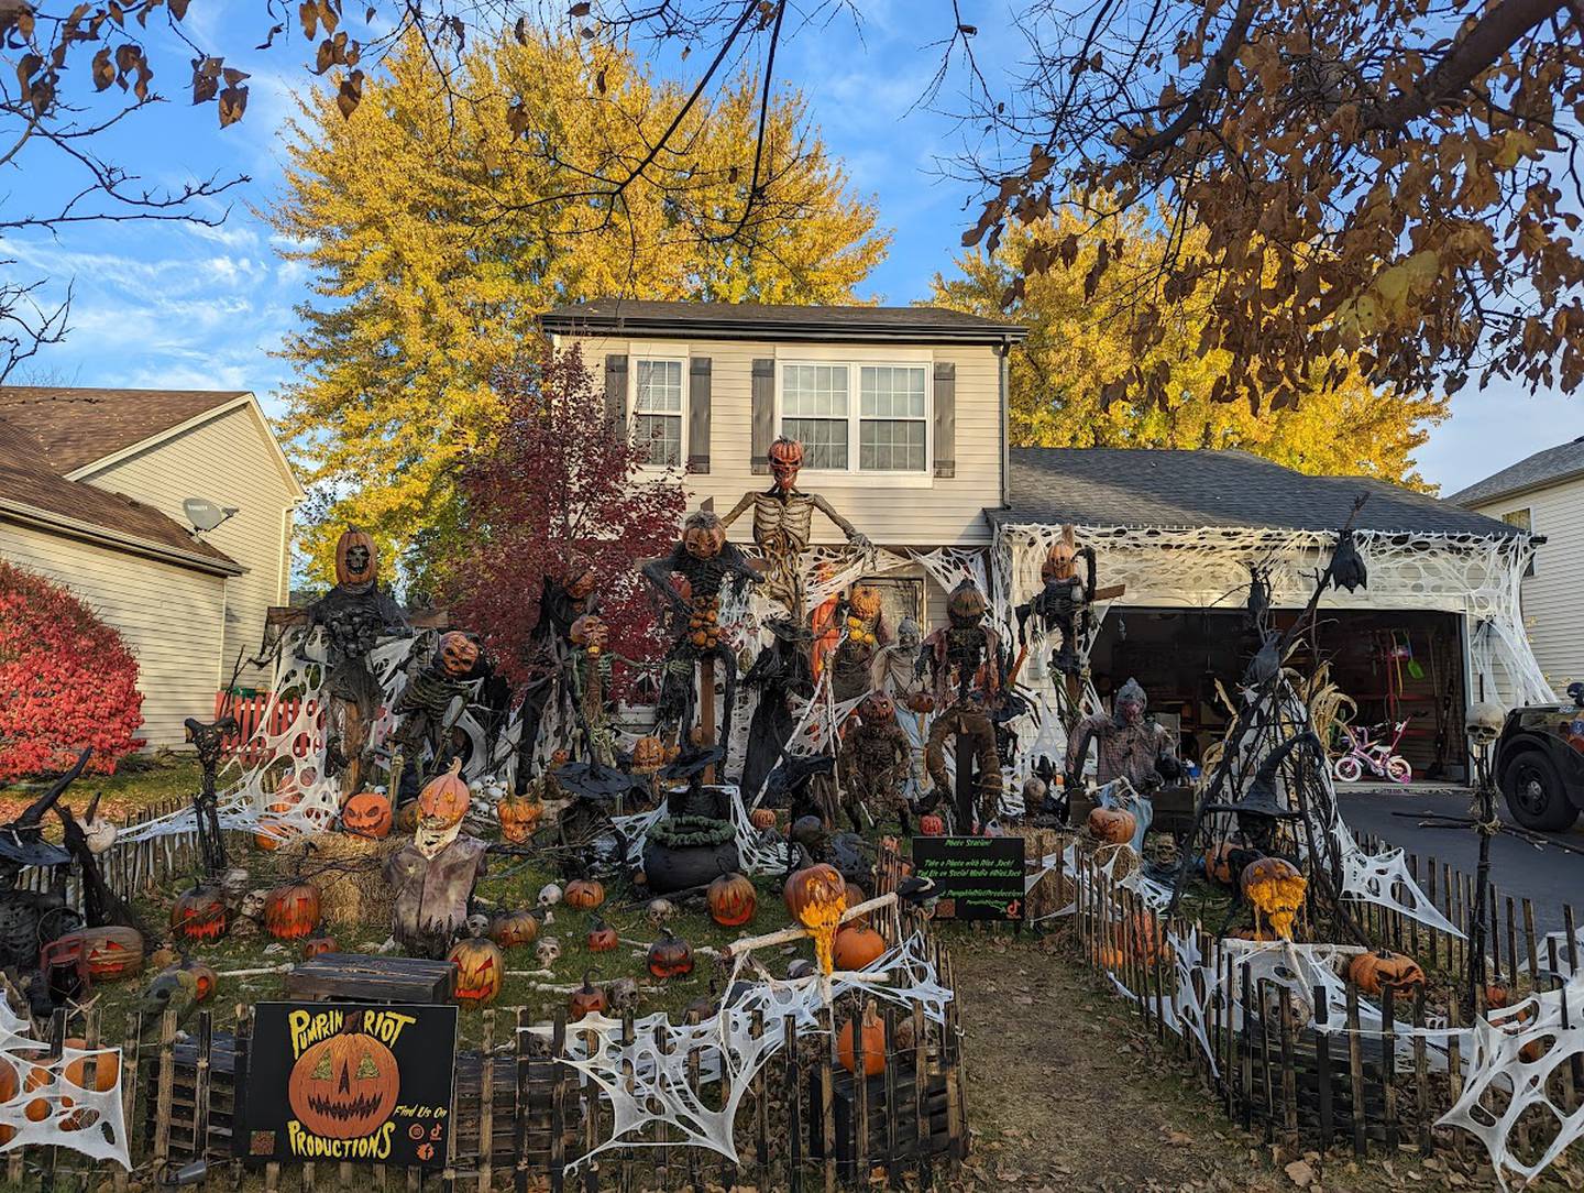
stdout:
<svg viewBox="0 0 1584 1193">
<path fill-rule="evenodd" d="M 143 745 L 138 661 L 70 589 L 0 559 L 0 783 L 93 746 L 109 775 Z"/>
</svg>

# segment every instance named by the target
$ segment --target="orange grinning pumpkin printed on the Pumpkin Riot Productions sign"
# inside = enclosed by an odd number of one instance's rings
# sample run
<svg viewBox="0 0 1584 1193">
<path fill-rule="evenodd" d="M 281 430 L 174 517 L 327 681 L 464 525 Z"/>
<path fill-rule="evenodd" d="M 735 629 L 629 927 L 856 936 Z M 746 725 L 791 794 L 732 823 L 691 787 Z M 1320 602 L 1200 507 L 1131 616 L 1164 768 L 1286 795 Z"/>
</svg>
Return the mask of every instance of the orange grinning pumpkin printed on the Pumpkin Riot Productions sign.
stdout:
<svg viewBox="0 0 1584 1193">
<path fill-rule="evenodd" d="M 326 1139 L 360 1139 L 379 1130 L 396 1109 L 401 1073 L 396 1057 L 361 1030 L 356 1012 L 345 1028 L 310 1046 L 287 1077 L 291 1114 L 304 1130 Z"/>
</svg>

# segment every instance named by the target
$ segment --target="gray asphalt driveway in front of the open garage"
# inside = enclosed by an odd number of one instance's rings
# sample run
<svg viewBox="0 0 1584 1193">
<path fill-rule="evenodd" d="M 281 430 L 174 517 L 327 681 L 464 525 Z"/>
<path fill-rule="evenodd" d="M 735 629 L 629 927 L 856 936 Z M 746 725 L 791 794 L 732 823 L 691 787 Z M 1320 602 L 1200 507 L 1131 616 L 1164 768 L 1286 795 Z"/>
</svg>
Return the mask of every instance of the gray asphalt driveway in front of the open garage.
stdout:
<svg viewBox="0 0 1584 1193">
<path fill-rule="evenodd" d="M 1419 857 L 1448 862 L 1468 875 L 1479 862 L 1479 840 L 1473 829 L 1426 829 L 1416 816 L 1467 816 L 1470 792 L 1432 787 L 1348 787 L 1337 784 L 1342 819 L 1354 833 L 1370 833 Z M 1511 822 L 1506 805 L 1497 810 Z M 1399 816 L 1397 813 L 1408 813 Z M 1584 848 L 1584 821 L 1565 833 L 1548 837 Z M 1562 930 L 1562 905 L 1571 903 L 1576 924 L 1584 927 L 1584 857 L 1562 849 L 1536 849 L 1516 837 L 1498 833 L 1491 841 L 1491 881 L 1503 897 L 1529 898 L 1535 905 L 1536 932 Z M 1522 933 L 1522 911 L 1517 930 Z M 1505 911 L 1503 911 L 1505 916 Z"/>
</svg>

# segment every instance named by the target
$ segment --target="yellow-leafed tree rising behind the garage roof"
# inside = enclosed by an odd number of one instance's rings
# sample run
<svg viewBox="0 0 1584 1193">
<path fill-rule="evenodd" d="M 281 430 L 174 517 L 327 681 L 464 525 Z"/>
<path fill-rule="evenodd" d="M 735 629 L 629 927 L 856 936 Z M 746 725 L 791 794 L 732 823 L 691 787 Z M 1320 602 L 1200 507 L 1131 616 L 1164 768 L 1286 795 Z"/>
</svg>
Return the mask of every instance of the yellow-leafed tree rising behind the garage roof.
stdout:
<svg viewBox="0 0 1584 1193">
<path fill-rule="evenodd" d="M 1242 448 L 1299 472 L 1364 474 L 1424 488 L 1411 453 L 1429 429 L 1446 418 L 1445 396 L 1402 394 L 1372 387 L 1350 361 L 1342 361 L 1332 387 L 1310 383 L 1297 406 L 1256 415 L 1248 406 L 1217 402 L 1226 375 L 1224 350 L 1199 352 L 1209 312 L 1190 304 L 1142 356 L 1134 355 L 1128 325 L 1091 301 L 1085 279 L 1101 253 L 1120 244 L 1123 266 L 1145 269 L 1159 250 L 1161 233 L 1139 214 L 1125 215 L 1106 238 L 1083 233 L 1085 220 L 1061 209 L 1039 225 L 1014 225 L 993 257 L 966 252 L 958 274 L 936 276 L 935 303 L 982 315 L 1004 312 L 1026 323 L 1028 339 L 1012 350 L 1012 442 L 1022 447 L 1213 447 Z M 1121 231 L 1125 230 L 1125 231 Z M 1042 246 L 1069 234 L 1080 238 L 1071 261 L 1036 261 Z M 1123 277 L 1123 285 L 1128 279 Z M 1136 279 L 1133 279 L 1136 280 Z M 1107 401 L 1118 377 L 1166 364 L 1177 387 L 1172 401 L 1134 398 Z"/>
</svg>

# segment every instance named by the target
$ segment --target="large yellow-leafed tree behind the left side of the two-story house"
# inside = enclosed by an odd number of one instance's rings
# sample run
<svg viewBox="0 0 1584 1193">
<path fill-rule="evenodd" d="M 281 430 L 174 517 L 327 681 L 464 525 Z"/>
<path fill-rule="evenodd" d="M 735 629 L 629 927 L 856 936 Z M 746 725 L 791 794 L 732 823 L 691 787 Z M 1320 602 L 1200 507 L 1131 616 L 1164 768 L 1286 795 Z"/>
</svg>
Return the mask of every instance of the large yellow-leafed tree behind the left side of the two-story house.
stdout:
<svg viewBox="0 0 1584 1193">
<path fill-rule="evenodd" d="M 760 136 L 752 78 L 689 106 L 634 54 L 551 33 L 480 43 L 448 76 L 412 36 L 386 67 L 350 117 L 329 93 L 303 97 L 269 212 L 317 295 L 285 345 L 285 426 L 331 496 L 306 532 L 318 569 L 356 521 L 445 588 L 456 464 L 494 434 L 489 379 L 548 307 L 844 301 L 885 250 L 798 95 L 771 97 Z M 584 185 L 656 146 L 648 185 Z"/>
</svg>

